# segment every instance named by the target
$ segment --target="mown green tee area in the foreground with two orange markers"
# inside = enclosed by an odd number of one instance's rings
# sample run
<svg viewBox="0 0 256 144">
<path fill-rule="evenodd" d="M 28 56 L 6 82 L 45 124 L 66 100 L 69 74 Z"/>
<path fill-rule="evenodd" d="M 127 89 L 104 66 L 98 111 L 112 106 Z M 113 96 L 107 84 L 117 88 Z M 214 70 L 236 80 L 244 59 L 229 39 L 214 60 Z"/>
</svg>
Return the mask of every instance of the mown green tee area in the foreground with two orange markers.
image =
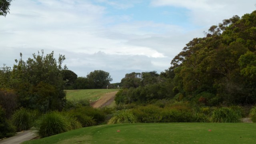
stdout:
<svg viewBox="0 0 256 144">
<path fill-rule="evenodd" d="M 22 144 L 255 144 L 255 129 L 254 123 L 110 124 Z"/>
</svg>

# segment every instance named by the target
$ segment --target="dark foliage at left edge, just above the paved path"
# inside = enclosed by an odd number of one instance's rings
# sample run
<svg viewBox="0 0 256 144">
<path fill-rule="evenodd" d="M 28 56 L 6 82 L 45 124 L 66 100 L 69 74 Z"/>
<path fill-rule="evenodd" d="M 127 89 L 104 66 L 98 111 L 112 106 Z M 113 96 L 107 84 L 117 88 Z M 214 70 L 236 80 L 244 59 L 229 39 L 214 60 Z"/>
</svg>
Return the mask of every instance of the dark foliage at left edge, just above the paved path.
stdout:
<svg viewBox="0 0 256 144">
<path fill-rule="evenodd" d="M 0 106 L 0 139 L 13 136 L 15 132 L 16 128 L 6 119 L 6 112 Z"/>
</svg>

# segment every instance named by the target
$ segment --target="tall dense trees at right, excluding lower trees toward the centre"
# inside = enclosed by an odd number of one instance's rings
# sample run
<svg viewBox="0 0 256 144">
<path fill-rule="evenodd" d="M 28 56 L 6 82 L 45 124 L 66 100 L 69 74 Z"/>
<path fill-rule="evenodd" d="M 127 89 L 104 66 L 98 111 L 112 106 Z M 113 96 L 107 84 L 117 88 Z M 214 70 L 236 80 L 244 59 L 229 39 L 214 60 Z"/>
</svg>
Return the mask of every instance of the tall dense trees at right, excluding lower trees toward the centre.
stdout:
<svg viewBox="0 0 256 144">
<path fill-rule="evenodd" d="M 194 38 L 162 72 L 171 79 L 177 100 L 205 106 L 256 102 L 256 11 L 211 26 Z"/>
</svg>

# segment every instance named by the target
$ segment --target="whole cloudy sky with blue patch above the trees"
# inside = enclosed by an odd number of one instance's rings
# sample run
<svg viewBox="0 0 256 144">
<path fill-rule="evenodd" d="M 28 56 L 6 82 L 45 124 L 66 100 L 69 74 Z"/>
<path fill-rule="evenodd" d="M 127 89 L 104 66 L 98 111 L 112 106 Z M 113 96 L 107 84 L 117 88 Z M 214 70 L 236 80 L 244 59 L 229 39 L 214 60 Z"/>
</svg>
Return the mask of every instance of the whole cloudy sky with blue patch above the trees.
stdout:
<svg viewBox="0 0 256 144">
<path fill-rule="evenodd" d="M 256 0 L 13 0 L 0 16 L 0 67 L 44 50 L 65 55 L 78 76 L 104 70 L 120 82 L 131 72 L 158 73 L 193 38 Z"/>
</svg>

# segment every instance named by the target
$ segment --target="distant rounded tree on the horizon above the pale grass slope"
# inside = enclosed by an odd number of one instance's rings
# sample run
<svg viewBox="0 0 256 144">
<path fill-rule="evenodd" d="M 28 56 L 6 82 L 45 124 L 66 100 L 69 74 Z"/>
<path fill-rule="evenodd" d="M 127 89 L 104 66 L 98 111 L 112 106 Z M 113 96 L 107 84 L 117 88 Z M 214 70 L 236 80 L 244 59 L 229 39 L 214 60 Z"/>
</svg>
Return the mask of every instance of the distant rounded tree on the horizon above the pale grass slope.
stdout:
<svg viewBox="0 0 256 144">
<path fill-rule="evenodd" d="M 106 88 L 106 86 L 113 80 L 109 75 L 109 72 L 103 70 L 94 70 L 87 75 L 87 78 L 92 85 L 92 88 Z"/>
</svg>

